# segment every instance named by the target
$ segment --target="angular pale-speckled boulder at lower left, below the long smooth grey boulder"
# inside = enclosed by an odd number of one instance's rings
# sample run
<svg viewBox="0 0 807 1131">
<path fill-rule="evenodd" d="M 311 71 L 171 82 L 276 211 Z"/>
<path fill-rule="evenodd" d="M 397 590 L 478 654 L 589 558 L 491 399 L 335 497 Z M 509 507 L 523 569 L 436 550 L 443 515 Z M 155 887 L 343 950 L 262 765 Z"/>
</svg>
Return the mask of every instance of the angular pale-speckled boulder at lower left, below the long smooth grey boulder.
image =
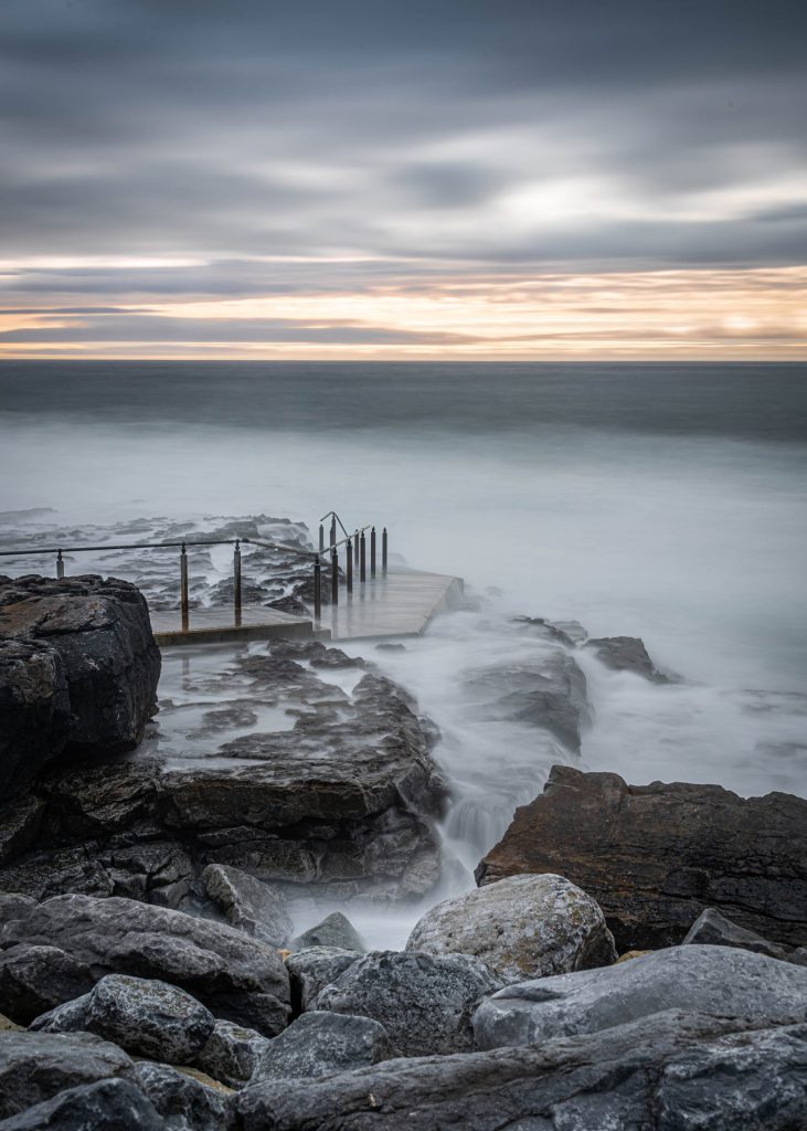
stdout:
<svg viewBox="0 0 807 1131">
<path fill-rule="evenodd" d="M 78 1002 L 57 1011 L 53 1021 L 61 1033 L 76 1025 L 128 1053 L 186 1064 L 205 1046 L 215 1019 L 196 998 L 167 982 L 107 974 Z"/>
</svg>

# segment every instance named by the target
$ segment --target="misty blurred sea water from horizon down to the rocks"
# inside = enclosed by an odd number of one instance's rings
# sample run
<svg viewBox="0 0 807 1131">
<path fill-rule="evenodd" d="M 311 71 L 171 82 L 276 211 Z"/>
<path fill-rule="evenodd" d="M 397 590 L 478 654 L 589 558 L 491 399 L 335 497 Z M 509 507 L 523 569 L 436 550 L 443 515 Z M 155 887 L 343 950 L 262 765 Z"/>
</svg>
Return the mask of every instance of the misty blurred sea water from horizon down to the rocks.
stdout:
<svg viewBox="0 0 807 1131">
<path fill-rule="evenodd" d="M 314 529 L 336 507 L 352 526 L 385 524 L 411 564 L 497 590 L 480 614 L 373 657 L 437 718 L 469 795 L 486 774 L 512 776 L 507 810 L 550 761 L 536 754 L 524 779 L 524 735 L 467 722 L 458 673 L 514 647 L 511 613 L 642 636 L 687 681 L 654 688 L 583 657 L 596 708 L 583 765 L 807 795 L 806 375 L 3 363 L 0 510 L 51 507 L 77 527 L 264 512 Z M 459 830 L 468 864 L 506 823 L 496 812 L 484 827 L 483 809 Z"/>
</svg>

